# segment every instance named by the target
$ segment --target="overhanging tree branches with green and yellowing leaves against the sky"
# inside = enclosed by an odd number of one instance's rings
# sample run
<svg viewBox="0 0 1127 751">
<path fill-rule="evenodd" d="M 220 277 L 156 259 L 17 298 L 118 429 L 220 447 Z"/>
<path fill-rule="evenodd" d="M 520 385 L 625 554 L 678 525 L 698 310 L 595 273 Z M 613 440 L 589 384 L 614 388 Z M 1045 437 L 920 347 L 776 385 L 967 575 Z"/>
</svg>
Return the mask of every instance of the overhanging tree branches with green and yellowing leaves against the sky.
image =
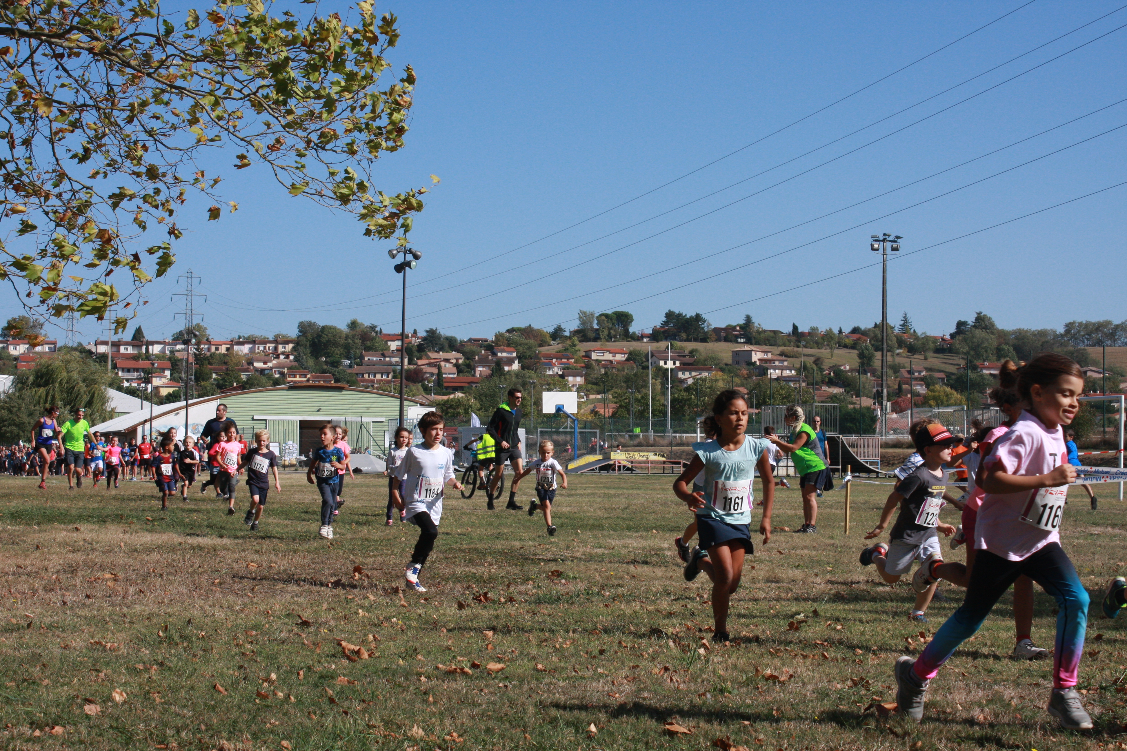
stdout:
<svg viewBox="0 0 1127 751">
<path fill-rule="evenodd" d="M 113 318 L 124 331 L 144 285 L 176 261 L 181 215 L 238 208 L 202 166 L 216 149 L 406 245 L 427 190 L 388 195 L 372 171 L 403 146 L 416 77 L 407 65 L 383 80 L 396 17 L 370 0 L 355 14 L 0 2 L 0 280 L 28 313 Z"/>
</svg>

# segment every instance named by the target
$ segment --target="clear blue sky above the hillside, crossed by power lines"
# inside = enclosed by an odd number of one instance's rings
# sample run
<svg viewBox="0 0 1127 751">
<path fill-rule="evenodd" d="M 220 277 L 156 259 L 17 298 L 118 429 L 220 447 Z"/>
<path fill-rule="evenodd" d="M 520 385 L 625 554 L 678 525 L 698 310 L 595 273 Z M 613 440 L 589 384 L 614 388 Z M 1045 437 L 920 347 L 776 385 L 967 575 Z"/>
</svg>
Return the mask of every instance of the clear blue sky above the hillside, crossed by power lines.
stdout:
<svg viewBox="0 0 1127 751">
<path fill-rule="evenodd" d="M 871 324 L 880 267 L 850 272 L 877 260 L 870 234 L 900 234 L 904 251 L 920 250 L 1125 179 L 1127 127 L 1104 134 L 1127 124 L 1127 101 L 1108 107 L 1127 98 L 1127 28 L 1112 32 L 1127 24 L 1127 9 L 1112 12 L 1120 3 L 1036 0 L 654 188 L 1024 1 L 380 3 L 400 18 L 392 60 L 412 64 L 419 84 L 407 147 L 381 160 L 378 187 L 442 178 L 411 234 L 424 257 L 409 272 L 408 328 L 470 337 L 574 327 L 580 307 L 628 310 L 636 328 L 667 309 L 717 325 L 746 313 L 779 329 Z M 188 268 L 203 277 L 215 338 L 293 332 L 303 319 L 398 330 L 401 279 L 385 244 L 348 216 L 289 197 L 260 169 L 223 173 L 224 198 L 240 209 L 205 222 L 201 204 L 185 222 L 172 278 L 150 286 L 137 319 L 148 336 L 179 328 L 183 298 L 170 295 Z M 907 311 L 931 333 L 977 310 L 1006 328 L 1127 319 L 1125 205 L 1127 186 L 890 262 L 889 318 Z M 2 313 L 16 312 L 9 299 Z M 89 340 L 97 324 L 80 330 Z"/>
</svg>

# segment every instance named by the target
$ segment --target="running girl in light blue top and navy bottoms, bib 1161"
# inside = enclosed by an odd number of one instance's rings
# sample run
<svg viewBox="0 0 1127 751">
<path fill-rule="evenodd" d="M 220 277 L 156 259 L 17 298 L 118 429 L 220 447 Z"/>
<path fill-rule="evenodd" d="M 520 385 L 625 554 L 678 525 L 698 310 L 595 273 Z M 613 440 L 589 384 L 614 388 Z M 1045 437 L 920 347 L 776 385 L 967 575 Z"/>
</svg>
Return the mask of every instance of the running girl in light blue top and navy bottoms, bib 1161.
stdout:
<svg viewBox="0 0 1127 751">
<path fill-rule="evenodd" d="M 696 513 L 700 546 L 694 547 L 685 565 L 685 580 L 703 571 L 712 580 L 713 641 L 728 641 L 728 604 L 739 587 L 744 556 L 753 551 L 752 483 L 755 471 L 763 483 L 763 517 L 760 534 L 771 539 L 771 508 L 774 503 L 774 476 L 771 473 L 770 441 L 751 438 L 747 430 L 747 401 L 735 390 L 720 392 L 712 404 L 717 426 L 715 440 L 693 444 L 696 456 L 673 483 L 673 492 Z M 704 472 L 703 492 L 692 492 L 693 479 Z"/>
</svg>

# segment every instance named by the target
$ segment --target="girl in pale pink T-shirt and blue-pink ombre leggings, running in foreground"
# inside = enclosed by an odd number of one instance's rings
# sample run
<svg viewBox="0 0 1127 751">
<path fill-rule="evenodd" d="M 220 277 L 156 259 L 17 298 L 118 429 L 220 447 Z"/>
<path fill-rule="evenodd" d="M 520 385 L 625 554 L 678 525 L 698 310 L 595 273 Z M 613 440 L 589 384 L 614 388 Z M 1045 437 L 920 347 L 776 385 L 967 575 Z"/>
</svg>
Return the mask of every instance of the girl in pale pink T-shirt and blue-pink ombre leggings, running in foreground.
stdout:
<svg viewBox="0 0 1127 751">
<path fill-rule="evenodd" d="M 1058 608 L 1048 712 L 1066 730 L 1092 727 L 1074 688 L 1089 596 L 1061 548 L 1059 533 L 1068 485 L 1076 479 L 1062 426 L 1076 417 L 1083 391 L 1080 366 L 1064 355 L 1042 352 L 1018 370 L 1018 393 L 1027 409 L 994 442 L 976 481 L 985 497 L 975 524 L 977 554 L 966 599 L 919 660 L 896 661 L 896 699 L 909 717 L 923 717 L 928 683 L 978 631 L 1005 590 L 1026 575 L 1051 594 Z"/>
</svg>

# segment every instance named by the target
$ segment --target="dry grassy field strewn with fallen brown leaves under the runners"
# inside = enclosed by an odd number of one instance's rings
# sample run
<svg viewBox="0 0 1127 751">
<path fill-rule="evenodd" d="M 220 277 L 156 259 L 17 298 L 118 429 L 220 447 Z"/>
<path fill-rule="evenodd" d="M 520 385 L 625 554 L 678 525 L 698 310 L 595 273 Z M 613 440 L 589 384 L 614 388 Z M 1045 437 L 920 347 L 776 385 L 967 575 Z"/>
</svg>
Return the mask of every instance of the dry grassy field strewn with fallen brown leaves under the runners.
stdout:
<svg viewBox="0 0 1127 751">
<path fill-rule="evenodd" d="M 1070 507 L 1064 525 L 1093 597 L 1081 688 L 1097 730 L 1082 735 L 1044 710 L 1049 664 L 1009 659 L 1008 598 L 933 681 L 922 725 L 875 706 L 895 700 L 895 658 L 916 654 L 961 599 L 947 588 L 931 622 L 913 624 L 909 587 L 858 565 L 878 485 L 855 486 L 848 537 L 840 490 L 819 534 L 779 530 L 748 560 L 729 622 L 738 641 L 709 644 L 707 580 L 685 583 L 671 544 L 689 520 L 671 482 L 575 476 L 556 537 L 539 516 L 453 500 L 420 596 L 401 589 L 415 529 L 383 526 L 379 477 L 349 484 L 332 542 L 314 537 L 314 493 L 289 473 L 257 534 L 241 524 L 245 486 L 228 517 L 199 494 L 161 512 L 149 483 L 68 492 L 53 479 L 43 492 L 2 477 L 0 744 L 1127 748 L 1127 624 L 1098 615 L 1107 578 L 1127 567 L 1111 493 L 1099 512 Z M 781 490 L 775 525 L 797 528 L 799 511 Z M 1045 646 L 1053 607 L 1038 593 Z"/>
</svg>

